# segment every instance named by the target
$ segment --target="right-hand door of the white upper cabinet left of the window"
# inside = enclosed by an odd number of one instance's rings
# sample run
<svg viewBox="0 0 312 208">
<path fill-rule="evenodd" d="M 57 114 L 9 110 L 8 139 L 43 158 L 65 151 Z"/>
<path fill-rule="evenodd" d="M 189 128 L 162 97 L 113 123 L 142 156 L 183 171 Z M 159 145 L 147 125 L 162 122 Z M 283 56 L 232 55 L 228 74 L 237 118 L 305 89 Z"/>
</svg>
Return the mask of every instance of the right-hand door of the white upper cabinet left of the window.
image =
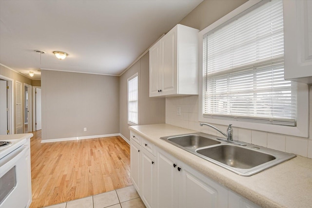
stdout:
<svg viewBox="0 0 312 208">
<path fill-rule="evenodd" d="M 162 95 L 177 94 L 177 27 L 162 39 Z"/>
</svg>

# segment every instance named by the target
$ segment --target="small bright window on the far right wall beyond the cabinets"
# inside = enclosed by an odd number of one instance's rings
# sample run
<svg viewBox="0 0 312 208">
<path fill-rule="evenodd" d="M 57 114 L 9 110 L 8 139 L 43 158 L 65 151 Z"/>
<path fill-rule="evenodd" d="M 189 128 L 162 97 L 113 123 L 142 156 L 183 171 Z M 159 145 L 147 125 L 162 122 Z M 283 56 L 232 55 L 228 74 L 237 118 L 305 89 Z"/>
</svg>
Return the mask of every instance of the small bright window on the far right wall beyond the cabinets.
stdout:
<svg viewBox="0 0 312 208">
<path fill-rule="evenodd" d="M 128 124 L 138 124 L 138 76 L 128 79 Z"/>
</svg>

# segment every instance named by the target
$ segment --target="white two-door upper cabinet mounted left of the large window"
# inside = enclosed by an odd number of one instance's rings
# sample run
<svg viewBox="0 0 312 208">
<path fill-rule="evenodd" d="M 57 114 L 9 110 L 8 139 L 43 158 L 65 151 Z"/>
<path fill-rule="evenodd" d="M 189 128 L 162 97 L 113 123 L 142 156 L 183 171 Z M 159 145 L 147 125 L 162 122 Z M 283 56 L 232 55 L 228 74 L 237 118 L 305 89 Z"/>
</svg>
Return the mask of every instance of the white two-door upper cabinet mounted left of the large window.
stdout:
<svg viewBox="0 0 312 208">
<path fill-rule="evenodd" d="M 150 48 L 150 97 L 198 94 L 198 30 L 177 24 Z"/>
</svg>

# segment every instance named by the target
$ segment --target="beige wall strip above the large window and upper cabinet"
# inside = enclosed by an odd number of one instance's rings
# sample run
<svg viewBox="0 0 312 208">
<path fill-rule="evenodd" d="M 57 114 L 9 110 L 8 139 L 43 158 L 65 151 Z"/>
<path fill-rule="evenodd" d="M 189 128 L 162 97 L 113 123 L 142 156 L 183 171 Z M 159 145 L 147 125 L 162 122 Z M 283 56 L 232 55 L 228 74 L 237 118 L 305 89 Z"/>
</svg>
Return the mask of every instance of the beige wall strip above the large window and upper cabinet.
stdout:
<svg viewBox="0 0 312 208">
<path fill-rule="evenodd" d="M 204 0 L 179 24 L 202 30 L 248 0 Z"/>
</svg>

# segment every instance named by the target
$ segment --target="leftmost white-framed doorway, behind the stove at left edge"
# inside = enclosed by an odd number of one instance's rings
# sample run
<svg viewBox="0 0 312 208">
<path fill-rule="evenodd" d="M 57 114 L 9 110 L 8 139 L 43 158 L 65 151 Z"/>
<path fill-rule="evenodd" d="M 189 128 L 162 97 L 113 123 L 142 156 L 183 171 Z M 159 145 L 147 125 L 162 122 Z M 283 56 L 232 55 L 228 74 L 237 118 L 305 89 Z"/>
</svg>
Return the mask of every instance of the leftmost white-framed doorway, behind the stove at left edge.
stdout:
<svg viewBox="0 0 312 208">
<path fill-rule="evenodd" d="M 13 80 L 0 75 L 0 135 L 13 134 Z"/>
</svg>

